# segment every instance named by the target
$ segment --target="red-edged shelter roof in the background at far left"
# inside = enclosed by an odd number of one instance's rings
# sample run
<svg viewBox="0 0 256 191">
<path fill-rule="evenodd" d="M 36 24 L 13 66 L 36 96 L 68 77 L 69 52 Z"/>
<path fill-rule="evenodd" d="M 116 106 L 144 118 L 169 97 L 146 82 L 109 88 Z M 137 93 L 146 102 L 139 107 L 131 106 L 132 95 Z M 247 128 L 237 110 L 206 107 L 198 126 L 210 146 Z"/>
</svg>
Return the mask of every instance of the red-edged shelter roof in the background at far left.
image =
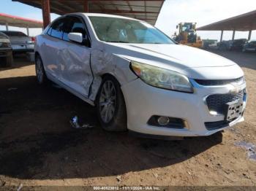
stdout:
<svg viewBox="0 0 256 191">
<path fill-rule="evenodd" d="M 42 28 L 42 21 L 0 13 L 0 25 L 5 26 L 6 23 L 8 26 Z"/>
</svg>

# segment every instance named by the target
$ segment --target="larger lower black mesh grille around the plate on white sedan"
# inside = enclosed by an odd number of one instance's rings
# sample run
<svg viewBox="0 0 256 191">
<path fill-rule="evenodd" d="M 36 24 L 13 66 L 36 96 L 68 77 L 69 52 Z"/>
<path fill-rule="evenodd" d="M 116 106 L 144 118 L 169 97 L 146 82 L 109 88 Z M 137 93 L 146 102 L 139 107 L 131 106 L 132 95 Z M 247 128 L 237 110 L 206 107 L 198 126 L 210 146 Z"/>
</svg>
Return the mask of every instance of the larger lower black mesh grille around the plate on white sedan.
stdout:
<svg viewBox="0 0 256 191">
<path fill-rule="evenodd" d="M 206 98 L 206 103 L 208 106 L 208 109 L 210 111 L 217 112 L 219 114 L 224 114 L 224 107 L 225 104 L 231 101 L 242 101 L 244 98 L 244 90 L 241 90 L 237 94 L 214 94 L 214 95 L 209 95 Z"/>
</svg>

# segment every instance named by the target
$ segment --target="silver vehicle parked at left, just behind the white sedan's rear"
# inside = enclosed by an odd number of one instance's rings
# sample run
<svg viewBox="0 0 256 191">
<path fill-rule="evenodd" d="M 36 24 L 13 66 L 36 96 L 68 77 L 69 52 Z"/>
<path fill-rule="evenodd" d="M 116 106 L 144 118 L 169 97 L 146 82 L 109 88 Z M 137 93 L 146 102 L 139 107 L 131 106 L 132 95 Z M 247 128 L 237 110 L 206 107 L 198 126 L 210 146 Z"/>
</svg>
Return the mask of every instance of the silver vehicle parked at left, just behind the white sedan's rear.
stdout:
<svg viewBox="0 0 256 191">
<path fill-rule="evenodd" d="M 18 52 L 34 52 L 34 38 L 29 37 L 20 31 L 1 31 L 10 38 L 12 51 Z"/>
</svg>

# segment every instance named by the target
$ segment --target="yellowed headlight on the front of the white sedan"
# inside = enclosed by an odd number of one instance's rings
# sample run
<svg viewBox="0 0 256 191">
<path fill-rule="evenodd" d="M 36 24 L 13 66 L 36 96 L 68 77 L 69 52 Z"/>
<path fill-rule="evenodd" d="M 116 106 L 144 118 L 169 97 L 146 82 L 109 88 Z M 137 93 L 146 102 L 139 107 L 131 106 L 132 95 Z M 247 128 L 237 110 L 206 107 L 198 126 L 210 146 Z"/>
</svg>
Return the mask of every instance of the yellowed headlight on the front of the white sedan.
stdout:
<svg viewBox="0 0 256 191">
<path fill-rule="evenodd" d="M 189 79 L 176 71 L 170 71 L 135 61 L 131 62 L 131 69 L 148 85 L 168 90 L 193 93 Z"/>
</svg>

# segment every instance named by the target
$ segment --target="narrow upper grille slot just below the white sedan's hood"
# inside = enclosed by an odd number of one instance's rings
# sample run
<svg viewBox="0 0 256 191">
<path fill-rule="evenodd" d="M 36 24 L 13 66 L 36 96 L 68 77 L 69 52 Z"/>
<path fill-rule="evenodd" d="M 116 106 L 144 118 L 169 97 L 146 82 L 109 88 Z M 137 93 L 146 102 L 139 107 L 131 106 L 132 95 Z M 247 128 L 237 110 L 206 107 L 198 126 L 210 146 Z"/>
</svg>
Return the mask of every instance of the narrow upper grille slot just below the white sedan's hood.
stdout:
<svg viewBox="0 0 256 191">
<path fill-rule="evenodd" d="M 195 79 L 195 82 L 199 85 L 227 85 L 230 83 L 241 83 L 244 81 L 244 77 L 236 79 Z"/>
</svg>

